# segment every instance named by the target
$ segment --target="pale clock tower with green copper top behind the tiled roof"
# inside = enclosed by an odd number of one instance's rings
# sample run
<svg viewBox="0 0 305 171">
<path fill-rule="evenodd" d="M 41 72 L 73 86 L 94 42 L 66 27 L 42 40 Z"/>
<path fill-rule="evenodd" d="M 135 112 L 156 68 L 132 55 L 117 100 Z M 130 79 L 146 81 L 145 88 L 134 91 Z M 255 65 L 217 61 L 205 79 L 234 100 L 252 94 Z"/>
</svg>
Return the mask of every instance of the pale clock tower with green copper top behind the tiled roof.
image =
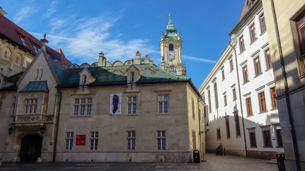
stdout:
<svg viewBox="0 0 305 171">
<path fill-rule="evenodd" d="M 177 30 L 171 21 L 171 14 L 169 14 L 169 22 L 162 31 L 160 43 L 161 51 L 161 68 L 176 76 L 187 78 L 187 69 L 182 62 L 182 42 L 180 32 Z"/>
</svg>

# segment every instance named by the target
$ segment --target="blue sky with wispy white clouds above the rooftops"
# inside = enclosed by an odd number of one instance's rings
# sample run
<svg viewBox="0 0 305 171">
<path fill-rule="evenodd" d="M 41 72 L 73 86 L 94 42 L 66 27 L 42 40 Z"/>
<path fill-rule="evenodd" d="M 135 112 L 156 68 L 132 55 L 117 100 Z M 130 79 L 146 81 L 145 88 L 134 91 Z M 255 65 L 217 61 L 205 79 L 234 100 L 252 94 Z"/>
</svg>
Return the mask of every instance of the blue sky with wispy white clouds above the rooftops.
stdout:
<svg viewBox="0 0 305 171">
<path fill-rule="evenodd" d="M 161 61 L 159 41 L 172 14 L 184 41 L 182 61 L 188 78 L 200 87 L 228 44 L 245 0 L 212 1 L 4 1 L 7 18 L 48 46 L 62 48 L 72 63 L 93 63 L 103 51 L 107 60 L 125 61 L 149 54 Z"/>
</svg>

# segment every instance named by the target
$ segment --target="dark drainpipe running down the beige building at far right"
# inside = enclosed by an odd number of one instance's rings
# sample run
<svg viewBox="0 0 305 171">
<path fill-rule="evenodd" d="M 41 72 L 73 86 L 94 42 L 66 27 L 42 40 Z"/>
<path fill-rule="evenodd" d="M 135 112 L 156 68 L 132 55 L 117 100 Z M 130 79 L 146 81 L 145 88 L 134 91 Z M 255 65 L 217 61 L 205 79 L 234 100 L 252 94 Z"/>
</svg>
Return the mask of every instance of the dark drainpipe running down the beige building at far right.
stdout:
<svg viewBox="0 0 305 171">
<path fill-rule="evenodd" d="M 296 135 L 295 135 L 295 129 L 294 129 L 294 124 L 293 124 L 293 119 L 292 119 L 290 99 L 289 99 L 289 94 L 288 94 L 289 90 L 288 90 L 286 69 L 285 69 L 285 63 L 284 63 L 284 57 L 283 57 L 283 51 L 282 51 L 282 45 L 281 45 L 281 39 L 280 39 L 280 33 L 279 33 L 279 27 L 278 27 L 278 19 L 277 19 L 275 4 L 273 3 L 273 0 L 270 0 L 270 2 L 271 2 L 271 9 L 272 9 L 272 15 L 273 15 L 273 23 L 275 23 L 275 30 L 276 30 L 277 41 L 278 41 L 282 75 L 284 78 L 285 99 L 286 99 L 286 106 L 287 106 L 287 112 L 288 112 L 289 123 L 290 123 L 290 131 L 291 131 L 291 137 L 292 137 L 296 170 L 301 171 L 301 164 L 300 164 L 300 159 L 299 159 L 299 154 L 298 154 L 298 147 L 297 147 L 297 142 L 296 142 Z"/>
</svg>

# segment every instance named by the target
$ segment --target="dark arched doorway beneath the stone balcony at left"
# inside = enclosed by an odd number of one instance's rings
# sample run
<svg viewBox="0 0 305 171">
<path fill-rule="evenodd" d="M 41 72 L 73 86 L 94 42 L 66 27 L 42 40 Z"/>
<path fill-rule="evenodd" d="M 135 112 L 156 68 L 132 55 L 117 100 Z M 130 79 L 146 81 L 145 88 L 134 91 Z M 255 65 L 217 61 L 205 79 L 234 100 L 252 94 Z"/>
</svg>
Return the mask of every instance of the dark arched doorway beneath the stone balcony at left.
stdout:
<svg viewBox="0 0 305 171">
<path fill-rule="evenodd" d="M 36 134 L 25 135 L 21 141 L 20 160 L 36 161 L 41 154 L 42 137 Z"/>
</svg>

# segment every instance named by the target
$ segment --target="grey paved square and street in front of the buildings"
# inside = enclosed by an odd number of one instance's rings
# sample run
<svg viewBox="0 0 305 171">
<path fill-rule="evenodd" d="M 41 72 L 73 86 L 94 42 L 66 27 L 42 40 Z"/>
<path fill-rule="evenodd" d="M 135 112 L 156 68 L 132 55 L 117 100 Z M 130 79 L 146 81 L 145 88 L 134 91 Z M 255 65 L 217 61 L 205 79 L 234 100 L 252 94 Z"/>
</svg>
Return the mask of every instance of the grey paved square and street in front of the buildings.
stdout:
<svg viewBox="0 0 305 171">
<path fill-rule="evenodd" d="M 278 166 L 267 164 L 265 160 L 237 157 L 237 156 L 215 156 L 215 154 L 205 155 L 207 162 L 201 163 L 100 163 L 100 162 L 48 162 L 48 163 L 23 163 L 5 162 L 0 166 L 2 170 L 35 170 L 35 171 L 199 171 L 199 170 L 268 170 L 276 171 Z"/>
</svg>

